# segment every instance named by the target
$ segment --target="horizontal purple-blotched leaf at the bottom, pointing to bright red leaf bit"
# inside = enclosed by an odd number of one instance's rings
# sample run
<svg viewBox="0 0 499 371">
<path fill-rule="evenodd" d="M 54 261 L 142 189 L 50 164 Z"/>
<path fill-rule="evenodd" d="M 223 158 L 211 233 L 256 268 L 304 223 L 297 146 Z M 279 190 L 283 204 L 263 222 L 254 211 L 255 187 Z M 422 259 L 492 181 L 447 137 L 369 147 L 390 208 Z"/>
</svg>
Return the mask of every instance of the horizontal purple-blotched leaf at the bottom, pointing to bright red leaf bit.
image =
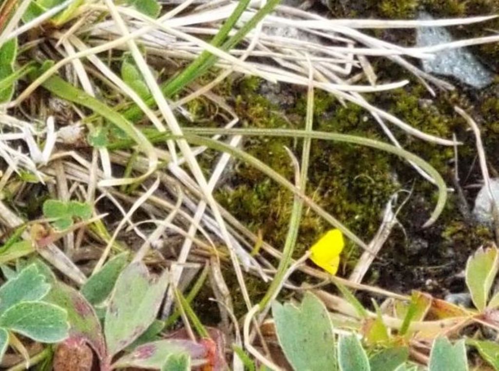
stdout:
<svg viewBox="0 0 499 371">
<path fill-rule="evenodd" d="M 113 368 L 137 367 L 141 369 L 161 369 L 168 356 L 187 353 L 193 366 L 200 366 L 207 357 L 204 346 L 190 340 L 167 339 L 147 343 L 121 357 Z"/>
</svg>

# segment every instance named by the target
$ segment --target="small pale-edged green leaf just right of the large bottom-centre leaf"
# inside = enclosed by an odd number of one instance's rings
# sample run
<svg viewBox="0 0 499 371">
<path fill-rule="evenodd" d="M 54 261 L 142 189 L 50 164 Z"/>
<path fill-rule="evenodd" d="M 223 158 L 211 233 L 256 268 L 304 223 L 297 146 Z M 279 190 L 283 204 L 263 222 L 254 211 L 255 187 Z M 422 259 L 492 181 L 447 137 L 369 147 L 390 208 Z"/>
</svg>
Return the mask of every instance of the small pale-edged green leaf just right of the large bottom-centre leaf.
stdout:
<svg viewBox="0 0 499 371">
<path fill-rule="evenodd" d="M 370 371 L 367 354 L 356 334 L 340 336 L 338 341 L 338 364 L 341 371 Z"/>
</svg>

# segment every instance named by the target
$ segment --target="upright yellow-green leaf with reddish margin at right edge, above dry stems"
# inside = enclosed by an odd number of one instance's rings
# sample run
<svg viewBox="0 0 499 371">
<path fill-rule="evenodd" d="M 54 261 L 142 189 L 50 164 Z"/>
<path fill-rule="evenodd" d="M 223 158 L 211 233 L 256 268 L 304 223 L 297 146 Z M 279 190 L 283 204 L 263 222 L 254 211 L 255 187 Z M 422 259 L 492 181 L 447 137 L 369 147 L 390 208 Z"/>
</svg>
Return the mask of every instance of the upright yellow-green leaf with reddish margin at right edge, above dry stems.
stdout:
<svg viewBox="0 0 499 371">
<path fill-rule="evenodd" d="M 499 268 L 497 247 L 480 247 L 466 264 L 466 284 L 473 303 L 479 311 L 487 306 L 487 299 Z"/>
</svg>

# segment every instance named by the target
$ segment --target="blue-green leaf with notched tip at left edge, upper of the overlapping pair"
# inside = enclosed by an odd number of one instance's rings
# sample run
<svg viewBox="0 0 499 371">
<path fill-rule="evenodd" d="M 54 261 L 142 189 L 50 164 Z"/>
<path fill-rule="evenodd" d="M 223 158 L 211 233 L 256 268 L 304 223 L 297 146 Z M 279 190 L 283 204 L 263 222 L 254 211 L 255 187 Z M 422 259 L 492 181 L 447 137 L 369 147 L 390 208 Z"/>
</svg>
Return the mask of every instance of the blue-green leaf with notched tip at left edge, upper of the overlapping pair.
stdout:
<svg viewBox="0 0 499 371">
<path fill-rule="evenodd" d="M 0 314 L 22 301 L 39 300 L 49 290 L 50 285 L 45 282 L 45 277 L 31 264 L 0 287 Z"/>
</svg>

